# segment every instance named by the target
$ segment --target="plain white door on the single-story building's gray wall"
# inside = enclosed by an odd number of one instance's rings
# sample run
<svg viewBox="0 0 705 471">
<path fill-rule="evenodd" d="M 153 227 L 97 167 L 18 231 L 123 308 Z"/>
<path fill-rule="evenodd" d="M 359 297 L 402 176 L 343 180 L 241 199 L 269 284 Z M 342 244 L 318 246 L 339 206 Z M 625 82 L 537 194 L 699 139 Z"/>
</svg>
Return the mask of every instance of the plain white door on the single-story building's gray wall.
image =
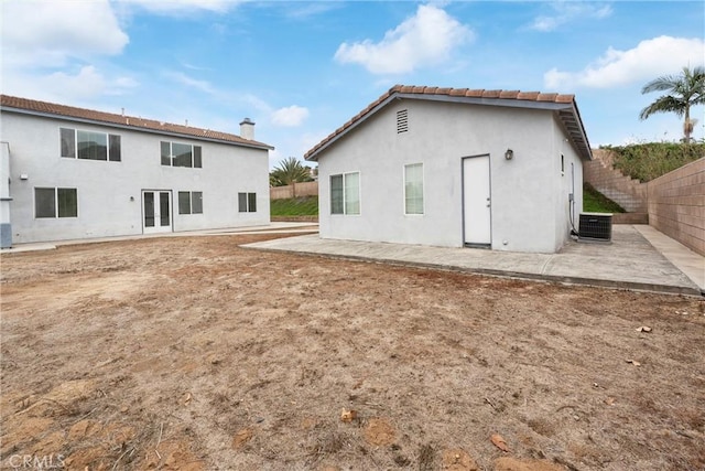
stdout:
<svg viewBox="0 0 705 471">
<path fill-rule="evenodd" d="M 465 245 L 491 245 L 491 203 L 489 156 L 463 159 L 463 237 Z"/>
</svg>

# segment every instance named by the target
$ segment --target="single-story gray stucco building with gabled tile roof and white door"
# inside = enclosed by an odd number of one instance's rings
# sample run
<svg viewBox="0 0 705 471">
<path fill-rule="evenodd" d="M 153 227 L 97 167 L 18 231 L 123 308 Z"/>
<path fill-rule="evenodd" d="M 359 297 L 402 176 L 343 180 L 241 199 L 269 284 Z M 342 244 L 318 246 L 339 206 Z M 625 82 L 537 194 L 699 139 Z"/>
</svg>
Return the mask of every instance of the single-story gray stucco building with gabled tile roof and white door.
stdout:
<svg viewBox="0 0 705 471">
<path fill-rule="evenodd" d="M 573 95 L 397 85 L 304 157 L 323 238 L 555 253 L 592 152 Z"/>
</svg>

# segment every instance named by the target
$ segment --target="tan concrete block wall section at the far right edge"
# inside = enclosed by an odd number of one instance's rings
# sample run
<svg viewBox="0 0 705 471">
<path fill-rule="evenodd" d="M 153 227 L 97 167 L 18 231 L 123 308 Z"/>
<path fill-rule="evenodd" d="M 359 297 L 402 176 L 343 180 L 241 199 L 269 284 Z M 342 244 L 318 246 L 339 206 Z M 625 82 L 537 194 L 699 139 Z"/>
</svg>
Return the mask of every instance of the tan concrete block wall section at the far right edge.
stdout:
<svg viewBox="0 0 705 471">
<path fill-rule="evenodd" d="M 648 183 L 649 224 L 705 256 L 705 157 Z"/>
</svg>

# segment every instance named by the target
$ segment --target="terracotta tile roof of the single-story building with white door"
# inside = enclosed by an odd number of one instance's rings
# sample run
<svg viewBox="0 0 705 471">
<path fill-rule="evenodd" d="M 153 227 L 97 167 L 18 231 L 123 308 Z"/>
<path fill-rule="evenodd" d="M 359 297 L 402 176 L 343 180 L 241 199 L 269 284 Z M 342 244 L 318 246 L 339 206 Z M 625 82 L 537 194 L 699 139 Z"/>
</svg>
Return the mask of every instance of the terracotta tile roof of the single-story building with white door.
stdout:
<svg viewBox="0 0 705 471">
<path fill-rule="evenodd" d="M 520 90 L 486 90 L 486 89 L 473 89 L 473 88 L 449 88 L 449 87 L 425 87 L 425 86 L 412 86 L 412 85 L 394 85 L 382 96 L 369 104 L 367 108 L 355 115 L 350 120 L 344 124 L 341 127 L 333 131 L 321 142 L 308 150 L 304 158 L 306 160 L 317 160 L 316 154 L 326 148 L 334 140 L 339 138 L 348 129 L 356 126 L 360 121 L 365 120 L 368 116 L 375 114 L 379 108 L 383 107 L 394 96 L 401 95 L 404 98 L 420 98 L 423 99 L 431 95 L 441 95 L 448 98 L 448 101 L 463 101 L 467 98 L 467 103 L 480 103 L 480 104 L 494 104 L 501 105 L 502 100 L 519 100 L 527 104 L 528 107 L 532 107 L 532 103 L 536 107 L 539 104 L 555 104 L 555 110 L 558 111 L 558 118 L 566 127 L 566 132 L 571 137 L 571 140 L 575 144 L 579 154 L 592 160 L 592 152 L 587 136 L 581 120 L 579 113 L 577 110 L 577 104 L 575 103 L 574 95 L 560 95 L 554 93 L 541 93 L 541 92 L 520 92 Z M 561 106 L 564 105 L 564 106 Z"/>
</svg>

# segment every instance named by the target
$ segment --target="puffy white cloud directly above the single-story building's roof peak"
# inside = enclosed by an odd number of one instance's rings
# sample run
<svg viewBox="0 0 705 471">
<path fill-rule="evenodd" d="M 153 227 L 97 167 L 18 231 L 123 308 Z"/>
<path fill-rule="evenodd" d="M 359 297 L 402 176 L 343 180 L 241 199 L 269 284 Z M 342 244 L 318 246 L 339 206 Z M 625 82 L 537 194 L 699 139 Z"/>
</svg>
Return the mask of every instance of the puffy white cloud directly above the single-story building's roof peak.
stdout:
<svg viewBox="0 0 705 471">
<path fill-rule="evenodd" d="M 360 64 L 372 74 L 402 74 L 446 61 L 456 46 L 473 36 L 469 28 L 444 10 L 422 4 L 414 17 L 388 31 L 380 42 L 343 43 L 335 58 Z"/>
</svg>

